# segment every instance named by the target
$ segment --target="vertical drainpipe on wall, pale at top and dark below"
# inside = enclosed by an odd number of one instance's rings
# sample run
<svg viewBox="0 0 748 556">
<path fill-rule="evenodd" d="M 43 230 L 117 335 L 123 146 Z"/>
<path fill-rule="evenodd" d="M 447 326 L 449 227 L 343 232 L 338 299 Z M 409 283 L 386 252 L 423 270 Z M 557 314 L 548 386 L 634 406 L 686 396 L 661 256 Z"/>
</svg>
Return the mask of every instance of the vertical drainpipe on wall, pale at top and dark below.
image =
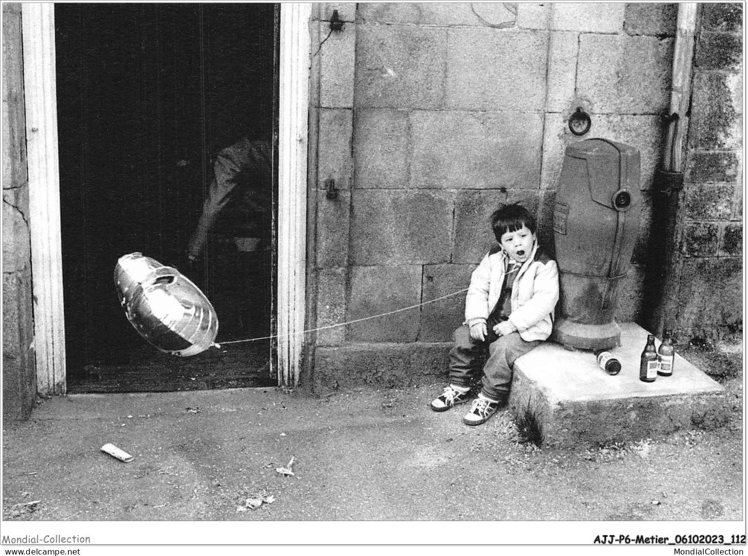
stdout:
<svg viewBox="0 0 748 556">
<path fill-rule="evenodd" d="M 666 118 L 666 140 L 660 167 L 654 173 L 653 209 L 660 209 L 663 234 L 660 257 L 654 259 L 663 265 L 660 271 L 662 288 L 660 303 L 652 318 L 653 332 L 662 337 L 664 328 L 674 328 L 678 310 L 677 216 L 683 191 L 683 143 L 688 129 L 691 100 L 691 62 L 693 37 L 696 31 L 696 2 L 678 4 L 678 31 L 675 34 L 675 51 L 672 61 L 670 110 Z M 657 218 L 653 218 L 657 221 Z M 653 232 L 655 232 L 653 230 Z M 656 233 L 656 232 L 655 232 Z M 663 255 L 663 256 L 662 256 Z"/>
</svg>

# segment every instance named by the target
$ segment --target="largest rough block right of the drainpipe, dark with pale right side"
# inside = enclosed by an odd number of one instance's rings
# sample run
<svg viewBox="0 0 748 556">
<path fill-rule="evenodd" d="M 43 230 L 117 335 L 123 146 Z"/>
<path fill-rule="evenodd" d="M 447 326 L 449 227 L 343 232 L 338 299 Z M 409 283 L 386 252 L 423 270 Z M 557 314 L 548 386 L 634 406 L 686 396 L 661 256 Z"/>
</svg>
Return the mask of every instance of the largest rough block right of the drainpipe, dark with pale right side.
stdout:
<svg viewBox="0 0 748 556">
<path fill-rule="evenodd" d="M 730 73 L 698 72 L 693 79 L 690 129 L 696 149 L 740 149 L 743 80 Z"/>
</svg>

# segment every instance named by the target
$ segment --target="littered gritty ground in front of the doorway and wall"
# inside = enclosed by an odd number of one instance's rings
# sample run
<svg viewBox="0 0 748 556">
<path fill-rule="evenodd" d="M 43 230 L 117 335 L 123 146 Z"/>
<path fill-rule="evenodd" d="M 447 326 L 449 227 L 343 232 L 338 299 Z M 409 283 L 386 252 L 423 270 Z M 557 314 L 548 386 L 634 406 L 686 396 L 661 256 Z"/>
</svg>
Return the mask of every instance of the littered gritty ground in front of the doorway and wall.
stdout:
<svg viewBox="0 0 748 556">
<path fill-rule="evenodd" d="M 742 521 L 742 377 L 723 384 L 734 418 L 717 430 L 575 451 L 523 443 L 506 413 L 434 413 L 440 385 L 59 397 L 4 424 L 3 517 Z"/>
</svg>

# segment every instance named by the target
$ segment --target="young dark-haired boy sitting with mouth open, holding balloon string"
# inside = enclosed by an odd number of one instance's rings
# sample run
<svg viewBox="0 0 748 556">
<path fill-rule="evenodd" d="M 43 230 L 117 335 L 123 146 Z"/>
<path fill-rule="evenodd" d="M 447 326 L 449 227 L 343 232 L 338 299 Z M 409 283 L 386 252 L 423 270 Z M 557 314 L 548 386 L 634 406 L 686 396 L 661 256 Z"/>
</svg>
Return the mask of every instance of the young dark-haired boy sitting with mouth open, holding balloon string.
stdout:
<svg viewBox="0 0 748 556">
<path fill-rule="evenodd" d="M 491 227 L 500 247 L 470 277 L 465 323 L 450 350 L 450 385 L 431 402 L 432 410 L 447 411 L 468 401 L 470 377 L 488 345 L 481 392 L 462 419 L 470 425 L 506 406 L 515 359 L 551 335 L 559 299 L 558 268 L 538 249 L 533 215 L 516 204 L 503 206 L 491 214 Z"/>
</svg>

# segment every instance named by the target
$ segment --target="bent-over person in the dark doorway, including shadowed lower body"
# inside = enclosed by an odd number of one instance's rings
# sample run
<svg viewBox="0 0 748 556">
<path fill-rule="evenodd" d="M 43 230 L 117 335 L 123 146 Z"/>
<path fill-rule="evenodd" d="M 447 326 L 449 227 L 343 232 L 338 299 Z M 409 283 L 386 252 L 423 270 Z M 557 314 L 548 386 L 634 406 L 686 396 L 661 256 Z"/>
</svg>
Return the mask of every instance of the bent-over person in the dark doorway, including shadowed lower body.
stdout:
<svg viewBox="0 0 748 556">
<path fill-rule="evenodd" d="M 269 140 L 242 138 L 218 152 L 187 247 L 190 273 L 221 315 L 222 341 L 269 334 L 272 167 Z"/>
</svg>

